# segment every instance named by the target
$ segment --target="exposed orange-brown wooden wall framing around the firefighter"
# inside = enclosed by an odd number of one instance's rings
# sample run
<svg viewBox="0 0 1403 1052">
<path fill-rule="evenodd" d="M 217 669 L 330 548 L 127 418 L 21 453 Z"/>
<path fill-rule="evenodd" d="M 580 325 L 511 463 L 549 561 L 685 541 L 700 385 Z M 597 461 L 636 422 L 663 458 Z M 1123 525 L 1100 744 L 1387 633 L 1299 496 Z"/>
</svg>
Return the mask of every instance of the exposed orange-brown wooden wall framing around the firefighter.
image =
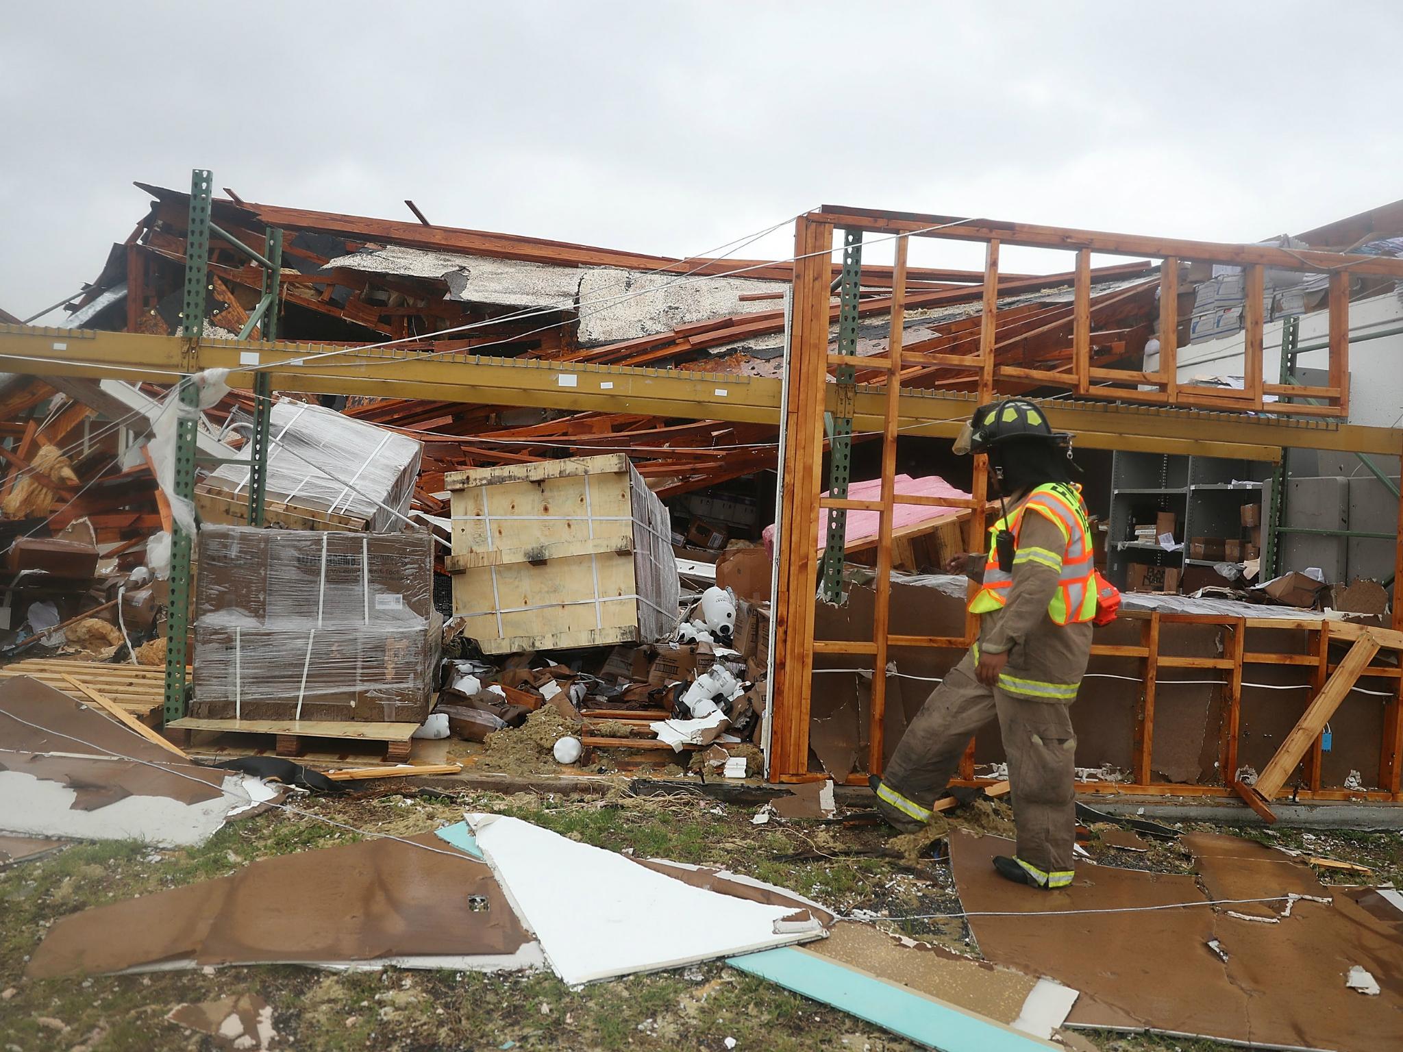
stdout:
<svg viewBox="0 0 1403 1052">
<path fill-rule="evenodd" d="M 831 306 L 831 254 L 833 237 L 839 229 L 861 230 L 864 233 L 895 237 L 895 267 L 892 268 L 892 314 L 885 360 L 877 358 L 852 358 L 829 352 L 829 306 Z M 1233 245 L 1204 241 L 1183 241 L 1150 238 L 1127 234 L 1106 234 L 1061 227 L 1041 227 L 1023 223 L 1002 223 L 992 220 L 969 220 L 948 216 L 916 213 L 874 212 L 866 209 L 824 206 L 817 212 L 800 216 L 794 233 L 794 299 L 788 348 L 788 389 L 784 405 L 784 464 L 783 464 L 783 519 L 784 529 L 777 539 L 779 592 L 774 599 L 774 655 L 773 670 L 773 714 L 770 727 L 770 778 L 776 781 L 803 781 L 817 776 L 810 771 L 810 694 L 812 687 L 814 655 L 850 655 L 874 669 L 885 668 L 888 649 L 892 647 L 946 647 L 965 648 L 974 641 L 976 619 L 967 616 L 961 637 L 894 635 L 890 624 L 890 568 L 892 544 L 892 511 L 899 504 L 929 504 L 929 498 L 905 497 L 895 492 L 895 446 L 901 431 L 899 403 L 904 369 L 912 365 L 933 365 L 930 355 L 905 355 L 902 348 L 902 324 L 906 302 L 906 259 L 911 237 L 958 238 L 985 243 L 985 276 L 981 302 L 978 353 L 964 356 L 941 356 L 937 365 L 958 367 L 968 372 L 974 405 L 992 401 L 1002 393 L 1027 390 L 1028 384 L 1059 387 L 1075 393 L 1079 398 L 1143 403 L 1163 410 L 1208 408 L 1232 412 L 1309 414 L 1319 418 L 1343 419 L 1348 415 L 1348 282 L 1351 274 L 1369 274 L 1403 278 L 1403 261 L 1381 259 L 1378 257 L 1341 255 L 1320 251 L 1294 251 L 1267 245 Z M 1035 245 L 1073 251 L 1073 324 L 1070 331 L 1070 353 L 1063 367 L 1056 370 L 1031 370 L 1000 366 L 995 356 L 995 332 L 998 321 L 999 251 L 1003 244 Z M 1148 255 L 1163 259 L 1160 271 L 1160 352 L 1155 372 L 1129 372 L 1096 369 L 1092 365 L 1092 252 L 1117 255 Z M 1246 269 L 1247 306 L 1244 310 L 1244 352 L 1246 382 L 1242 390 L 1225 390 L 1195 384 L 1180 384 L 1177 376 L 1179 349 L 1179 282 L 1180 265 L 1184 262 L 1219 262 Z M 1330 275 L 1330 339 L 1329 339 L 1329 383 L 1324 387 L 1291 387 L 1266 383 L 1268 370 L 1263 358 L 1263 310 L 1261 288 L 1266 268 L 1284 268 Z M 1254 295 L 1256 293 L 1256 295 Z M 833 366 L 861 366 L 866 372 L 878 370 L 884 391 L 882 456 L 881 456 L 881 498 L 878 501 L 852 501 L 822 498 L 824 460 L 824 411 L 828 404 L 829 369 Z M 1013 390 L 1009 390 L 1013 389 Z M 1150 390 L 1145 390 L 1150 389 Z M 1320 404 L 1266 403 L 1267 396 L 1291 394 L 1309 397 Z M 1052 414 L 1055 417 L 1055 412 Z M 1127 428 L 1127 446 L 1134 439 L 1155 435 L 1155 417 L 1148 415 L 1135 426 Z M 1400 449 L 1403 453 L 1403 449 Z M 964 502 L 971 509 L 971 537 L 985 533 L 985 506 L 988 498 L 988 468 L 985 457 L 976 456 L 971 498 Z M 941 504 L 951 504 L 944 498 Z M 818 578 L 818 529 L 824 509 L 846 508 L 875 511 L 880 513 L 880 536 L 877 544 L 875 607 L 873 616 L 873 638 L 867 641 L 839 641 L 814 638 L 814 603 Z M 1403 506 L 1400 506 L 1400 529 L 1403 529 Z M 1397 548 L 1396 568 L 1403 569 L 1403 544 Z M 1225 652 L 1219 658 L 1184 658 L 1160 652 L 1159 627 L 1166 621 L 1188 621 L 1219 624 L 1225 630 Z M 1341 676 L 1330 663 L 1330 644 L 1340 640 L 1357 640 L 1358 626 L 1320 621 L 1280 619 L 1232 619 L 1190 614 L 1153 614 L 1142 619 L 1142 640 L 1138 647 L 1097 645 L 1093 654 L 1115 654 L 1135 656 L 1142 662 L 1143 693 L 1139 700 L 1139 736 L 1135 742 L 1134 784 L 1085 783 L 1083 791 L 1115 791 L 1179 795 L 1230 795 L 1237 770 L 1239 703 L 1243 683 L 1243 669 L 1264 663 L 1310 665 L 1315 672 L 1315 699 L 1326 689 L 1326 706 L 1334 694 L 1343 697 L 1367 668 L 1369 676 L 1390 677 L 1397 686 L 1385 707 L 1385 734 L 1379 756 L 1379 790 L 1351 793 L 1320 785 L 1319 728 L 1312 731 L 1312 710 L 1306 707 L 1302 722 L 1292 735 L 1306 741 L 1302 757 L 1306 763 L 1308 785 L 1298 795 L 1315 800 L 1371 798 L 1403 801 L 1400 773 L 1403 773 L 1403 677 L 1397 665 L 1371 665 L 1376 656 L 1364 649 L 1352 651 L 1351 665 Z M 1244 637 L 1247 628 L 1294 628 L 1315 633 L 1316 645 L 1310 654 L 1247 652 Z M 1403 612 L 1395 603 L 1393 630 L 1403 631 Z M 1388 631 L 1388 630 L 1382 630 Z M 1403 640 L 1403 635 L 1397 637 Z M 1365 647 L 1367 649 L 1367 647 Z M 1361 663 L 1362 662 L 1362 663 Z M 1358 668 L 1354 668 L 1358 666 Z M 1160 784 L 1152 780 L 1153 756 L 1153 707 L 1155 683 L 1163 668 L 1212 668 L 1226 672 L 1225 721 L 1222 729 L 1219 763 L 1225 771 L 1222 785 Z M 1343 679 L 1348 679 L 1341 686 Z M 1312 701 L 1313 704 L 1313 701 Z M 868 727 L 867 770 L 881 771 L 884 755 L 882 727 L 885 708 L 885 676 L 873 676 L 871 710 Z M 1323 721 L 1322 721 L 1323 727 Z M 1313 742 L 1313 746 L 1312 746 Z M 1299 745 L 1299 741 L 1296 742 Z M 1296 767 L 1296 757 L 1287 770 L 1273 770 L 1273 778 L 1282 783 Z M 1282 756 L 1274 767 L 1287 764 L 1289 756 Z M 974 774 L 974 749 L 965 753 L 961 764 L 961 778 Z M 850 781 L 864 781 L 866 776 L 852 776 Z M 1270 784 L 1267 788 L 1273 788 Z M 1277 785 L 1280 788 L 1280 785 Z M 1243 794 L 1246 795 L 1246 794 Z M 1270 794 L 1267 794 L 1270 795 Z M 1263 801 L 1257 801 L 1266 807 Z M 1254 805 L 1257 805 L 1254 804 Z M 1258 807 L 1258 809 L 1261 809 Z"/>
</svg>

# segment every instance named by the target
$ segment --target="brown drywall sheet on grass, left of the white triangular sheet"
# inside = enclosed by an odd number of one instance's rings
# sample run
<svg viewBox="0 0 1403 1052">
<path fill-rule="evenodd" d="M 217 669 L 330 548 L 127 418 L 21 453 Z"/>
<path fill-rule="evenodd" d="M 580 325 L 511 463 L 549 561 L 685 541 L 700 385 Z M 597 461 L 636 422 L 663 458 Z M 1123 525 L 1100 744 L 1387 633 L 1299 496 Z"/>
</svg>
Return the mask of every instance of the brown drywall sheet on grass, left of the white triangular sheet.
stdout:
<svg viewBox="0 0 1403 1052">
<path fill-rule="evenodd" d="M 202 965 L 540 968 L 481 861 L 434 833 L 261 858 L 59 920 L 32 978 Z"/>
</svg>

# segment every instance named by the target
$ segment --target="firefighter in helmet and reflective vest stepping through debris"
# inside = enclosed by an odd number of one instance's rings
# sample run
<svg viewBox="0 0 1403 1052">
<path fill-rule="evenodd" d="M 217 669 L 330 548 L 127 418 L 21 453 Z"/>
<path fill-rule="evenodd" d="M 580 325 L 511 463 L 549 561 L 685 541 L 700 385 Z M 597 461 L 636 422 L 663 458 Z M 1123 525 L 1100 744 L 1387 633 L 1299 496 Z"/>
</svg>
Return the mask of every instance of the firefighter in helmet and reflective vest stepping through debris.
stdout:
<svg viewBox="0 0 1403 1052">
<path fill-rule="evenodd" d="M 986 453 L 1002 518 L 986 554 L 946 569 L 981 585 L 969 610 L 979 634 L 922 706 L 881 778 L 877 808 L 902 830 L 922 828 L 975 731 L 999 717 L 1009 759 L 1017 851 L 1000 875 L 1034 888 L 1072 882 L 1076 812 L 1070 706 L 1092 651 L 1097 612 L 1092 532 L 1072 481 L 1070 436 L 1021 398 L 981 405 L 957 453 Z"/>
</svg>

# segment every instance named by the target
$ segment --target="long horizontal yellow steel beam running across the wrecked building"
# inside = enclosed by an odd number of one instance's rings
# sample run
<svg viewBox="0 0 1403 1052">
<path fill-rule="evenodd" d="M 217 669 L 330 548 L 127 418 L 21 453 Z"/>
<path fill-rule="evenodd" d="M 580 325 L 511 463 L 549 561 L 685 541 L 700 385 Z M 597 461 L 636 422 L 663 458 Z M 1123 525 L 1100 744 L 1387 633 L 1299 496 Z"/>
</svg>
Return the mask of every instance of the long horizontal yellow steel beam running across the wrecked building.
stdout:
<svg viewBox="0 0 1403 1052">
<path fill-rule="evenodd" d="M 0 370 L 171 383 L 182 372 L 224 367 L 234 386 L 254 367 L 272 366 L 272 386 L 307 394 L 368 394 L 483 405 L 529 405 L 572 412 L 637 412 L 685 419 L 774 424 L 780 382 L 732 373 L 640 369 L 467 353 L 428 355 L 394 348 L 314 358 L 330 346 L 202 339 L 139 332 L 97 332 L 0 325 Z M 853 429 L 880 431 L 882 389 L 860 387 Z M 829 393 L 829 408 L 836 393 Z M 902 435 L 953 438 L 972 411 L 972 396 L 904 391 Z M 1114 403 L 1048 400 L 1052 425 L 1087 449 L 1194 453 L 1280 460 L 1287 447 L 1396 456 L 1403 431 L 1301 418 L 1164 410 Z"/>
</svg>

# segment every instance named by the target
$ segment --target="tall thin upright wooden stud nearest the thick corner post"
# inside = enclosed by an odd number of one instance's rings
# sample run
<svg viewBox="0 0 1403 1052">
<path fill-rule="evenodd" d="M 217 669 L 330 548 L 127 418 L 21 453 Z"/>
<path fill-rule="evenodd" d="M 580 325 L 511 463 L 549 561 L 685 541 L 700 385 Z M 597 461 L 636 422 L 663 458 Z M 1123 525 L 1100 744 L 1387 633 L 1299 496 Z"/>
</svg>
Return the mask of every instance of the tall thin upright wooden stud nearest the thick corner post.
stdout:
<svg viewBox="0 0 1403 1052">
<path fill-rule="evenodd" d="M 867 770 L 881 774 L 885 756 L 887 717 L 887 633 L 891 627 L 891 533 L 897 511 L 897 414 L 901 408 L 901 338 L 906 320 L 906 248 L 909 238 L 897 238 L 892 267 L 891 325 L 887 330 L 887 398 L 882 415 L 881 511 L 877 525 L 877 582 L 873 603 L 873 689 L 867 728 Z"/>
</svg>

